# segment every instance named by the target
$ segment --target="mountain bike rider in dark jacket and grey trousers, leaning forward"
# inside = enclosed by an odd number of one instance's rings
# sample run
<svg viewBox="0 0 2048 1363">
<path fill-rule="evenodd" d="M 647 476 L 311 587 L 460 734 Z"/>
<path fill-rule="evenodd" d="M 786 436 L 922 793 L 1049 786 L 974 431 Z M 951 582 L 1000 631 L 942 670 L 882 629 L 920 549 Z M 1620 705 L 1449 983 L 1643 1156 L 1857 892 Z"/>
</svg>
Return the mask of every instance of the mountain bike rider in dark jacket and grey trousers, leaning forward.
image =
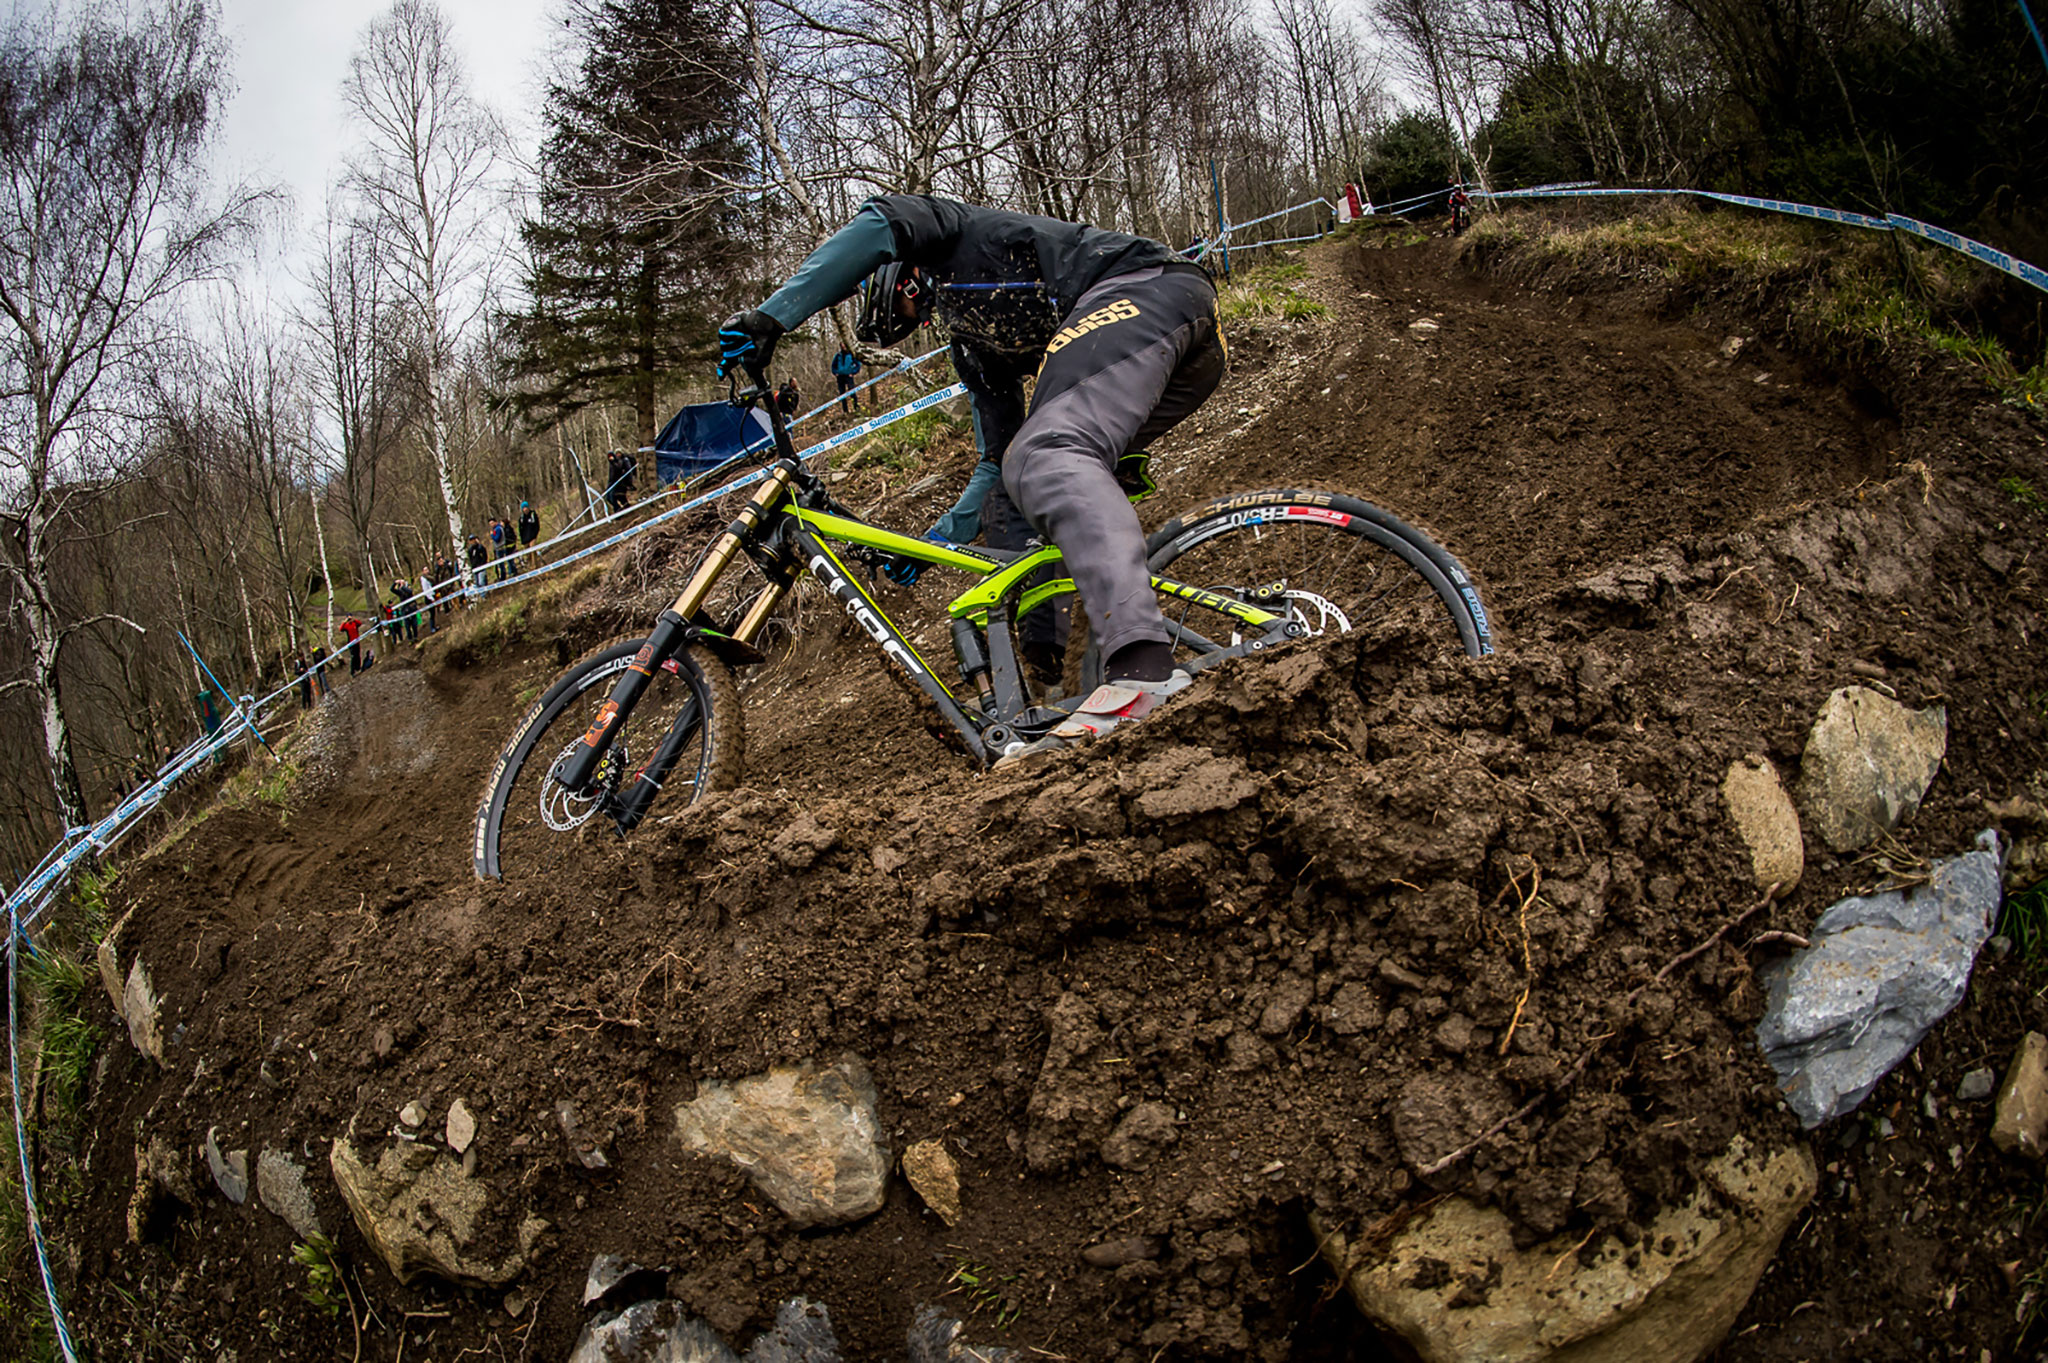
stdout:
<svg viewBox="0 0 2048 1363">
<path fill-rule="evenodd" d="M 719 332 L 719 372 L 766 368 L 780 336 L 854 295 L 860 338 L 887 346 L 930 323 L 952 332 L 973 399 L 975 467 L 934 532 L 1059 546 L 1104 657 L 1104 686 L 1032 749 L 1065 747 L 1139 718 L 1188 686 L 1145 567 L 1145 532 L 1116 467 L 1202 405 L 1227 350 L 1208 274 L 1161 241 L 928 194 L 879 194 L 758 309 Z M 1024 381 L 1036 372 L 1030 405 Z M 1022 651 L 1040 677 L 1063 655 L 1051 610 Z"/>
</svg>

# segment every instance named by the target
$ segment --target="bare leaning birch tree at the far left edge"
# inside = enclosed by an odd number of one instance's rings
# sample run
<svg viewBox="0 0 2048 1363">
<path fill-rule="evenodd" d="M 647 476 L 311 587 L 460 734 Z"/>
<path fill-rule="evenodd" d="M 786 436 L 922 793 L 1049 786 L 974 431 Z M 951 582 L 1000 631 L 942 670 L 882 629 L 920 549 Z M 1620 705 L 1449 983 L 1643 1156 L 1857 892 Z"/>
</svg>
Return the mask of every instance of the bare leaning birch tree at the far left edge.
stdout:
<svg viewBox="0 0 2048 1363">
<path fill-rule="evenodd" d="M 70 825 L 88 810 L 59 663 L 92 620 L 68 610 L 51 569 L 86 534 L 80 512 L 135 467 L 137 377 L 172 344 L 168 303 L 219 268 L 258 207 L 242 188 L 205 194 L 225 80 L 203 0 L 133 27 L 16 12 L 0 37 L 0 573 L 31 653 L 0 694 L 37 698 Z"/>
</svg>

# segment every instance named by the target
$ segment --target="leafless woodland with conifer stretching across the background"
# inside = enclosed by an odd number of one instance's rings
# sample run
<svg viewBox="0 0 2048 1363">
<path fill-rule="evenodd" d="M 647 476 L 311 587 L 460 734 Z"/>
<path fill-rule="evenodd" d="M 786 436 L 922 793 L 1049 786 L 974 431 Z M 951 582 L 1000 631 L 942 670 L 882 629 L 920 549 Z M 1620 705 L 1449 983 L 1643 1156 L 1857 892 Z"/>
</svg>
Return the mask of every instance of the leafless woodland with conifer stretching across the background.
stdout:
<svg viewBox="0 0 2048 1363">
<path fill-rule="evenodd" d="M 713 395 L 711 334 L 870 192 L 1186 246 L 1358 182 L 1907 213 L 2048 260 L 2017 0 L 565 0 L 522 164 L 432 0 L 356 39 L 307 239 L 207 176 L 205 0 L 0 31 L 0 870 L 522 499 Z M 1300 227 L 1309 229 L 1309 225 Z M 252 256 L 283 250 L 272 297 Z M 1913 280 L 1901 278 L 1911 291 Z M 2042 362 L 2042 299 L 1972 325 Z M 784 352 L 807 393 L 850 317 Z M 801 344 L 815 340 L 819 344 Z M 332 591 L 328 589 L 332 583 Z"/>
</svg>

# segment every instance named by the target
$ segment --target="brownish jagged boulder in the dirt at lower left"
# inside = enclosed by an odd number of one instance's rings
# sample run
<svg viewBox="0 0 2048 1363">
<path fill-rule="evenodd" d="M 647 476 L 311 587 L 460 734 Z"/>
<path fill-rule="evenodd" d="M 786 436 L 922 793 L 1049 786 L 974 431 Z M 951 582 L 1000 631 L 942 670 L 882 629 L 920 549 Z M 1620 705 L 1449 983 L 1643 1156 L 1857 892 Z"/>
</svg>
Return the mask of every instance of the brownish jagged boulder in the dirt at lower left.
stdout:
<svg viewBox="0 0 2048 1363">
<path fill-rule="evenodd" d="M 492 1216 L 492 1191 L 481 1179 L 432 1146 L 399 1140 L 371 1164 L 344 1138 L 334 1142 L 328 1167 L 362 1238 L 399 1283 L 436 1273 L 465 1287 L 502 1287 L 526 1269 L 547 1230 L 541 1218 L 522 1216 L 492 1248 L 487 1228 L 508 1218 Z"/>
</svg>

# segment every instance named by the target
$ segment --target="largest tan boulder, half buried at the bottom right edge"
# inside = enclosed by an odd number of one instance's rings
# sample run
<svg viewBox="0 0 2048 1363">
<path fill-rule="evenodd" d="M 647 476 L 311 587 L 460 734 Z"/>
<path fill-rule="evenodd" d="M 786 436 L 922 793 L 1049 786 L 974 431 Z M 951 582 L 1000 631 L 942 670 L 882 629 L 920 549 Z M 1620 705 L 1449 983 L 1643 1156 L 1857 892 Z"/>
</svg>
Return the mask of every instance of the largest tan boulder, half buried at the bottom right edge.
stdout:
<svg viewBox="0 0 2048 1363">
<path fill-rule="evenodd" d="M 1507 1216 L 1464 1197 L 1362 1263 L 1341 1234 L 1315 1234 L 1360 1310 L 1421 1363 L 1694 1363 L 1741 1314 L 1812 1191 L 1804 1146 L 1767 1154 L 1737 1138 L 1634 1244 L 1606 1234 L 1581 1246 L 1565 1232 L 1516 1248 Z"/>
</svg>

